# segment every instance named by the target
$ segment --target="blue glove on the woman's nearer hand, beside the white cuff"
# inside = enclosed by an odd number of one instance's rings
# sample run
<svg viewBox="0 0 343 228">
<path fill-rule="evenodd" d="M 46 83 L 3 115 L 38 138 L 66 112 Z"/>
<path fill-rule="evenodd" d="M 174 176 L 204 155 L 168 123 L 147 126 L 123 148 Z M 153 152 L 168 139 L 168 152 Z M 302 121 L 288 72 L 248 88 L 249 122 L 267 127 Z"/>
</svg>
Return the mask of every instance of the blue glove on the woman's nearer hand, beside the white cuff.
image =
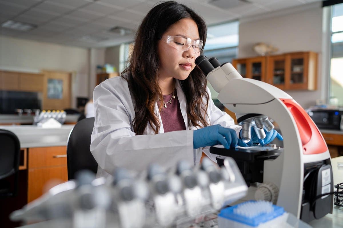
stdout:
<svg viewBox="0 0 343 228">
<path fill-rule="evenodd" d="M 221 144 L 226 149 L 229 147 L 244 146 L 247 144 L 239 139 L 236 131 L 230 128 L 224 128 L 220 124 L 207 126 L 193 132 L 193 148 L 197 149 L 205 146 L 214 146 Z"/>
</svg>

